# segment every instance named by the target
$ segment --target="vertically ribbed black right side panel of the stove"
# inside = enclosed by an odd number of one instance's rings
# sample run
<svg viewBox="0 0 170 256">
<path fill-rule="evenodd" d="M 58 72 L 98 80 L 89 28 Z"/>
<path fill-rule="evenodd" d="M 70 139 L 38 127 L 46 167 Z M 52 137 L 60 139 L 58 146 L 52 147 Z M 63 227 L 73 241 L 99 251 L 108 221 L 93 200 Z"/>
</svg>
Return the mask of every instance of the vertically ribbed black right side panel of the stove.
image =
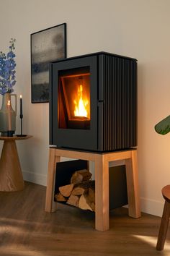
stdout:
<svg viewBox="0 0 170 256">
<path fill-rule="evenodd" d="M 103 56 L 103 149 L 137 145 L 137 64 L 135 60 Z"/>
</svg>

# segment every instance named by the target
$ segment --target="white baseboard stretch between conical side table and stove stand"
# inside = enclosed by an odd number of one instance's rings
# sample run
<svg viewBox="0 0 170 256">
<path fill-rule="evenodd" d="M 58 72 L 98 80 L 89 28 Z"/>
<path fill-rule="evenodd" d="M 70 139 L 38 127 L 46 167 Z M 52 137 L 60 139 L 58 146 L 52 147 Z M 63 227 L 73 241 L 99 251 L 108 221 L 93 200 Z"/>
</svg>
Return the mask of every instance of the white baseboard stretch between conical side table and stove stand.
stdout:
<svg viewBox="0 0 170 256">
<path fill-rule="evenodd" d="M 47 176 L 43 174 L 35 174 L 31 171 L 22 171 L 24 181 L 32 182 L 38 185 L 47 186 Z"/>
</svg>

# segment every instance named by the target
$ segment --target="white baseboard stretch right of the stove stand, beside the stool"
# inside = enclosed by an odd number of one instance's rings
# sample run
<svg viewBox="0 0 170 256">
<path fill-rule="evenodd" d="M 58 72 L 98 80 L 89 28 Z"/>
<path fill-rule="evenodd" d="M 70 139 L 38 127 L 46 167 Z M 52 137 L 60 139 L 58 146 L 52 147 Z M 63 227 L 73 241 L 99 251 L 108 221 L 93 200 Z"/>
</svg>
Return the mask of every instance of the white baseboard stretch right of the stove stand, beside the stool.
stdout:
<svg viewBox="0 0 170 256">
<path fill-rule="evenodd" d="M 162 216 L 164 209 L 164 201 L 151 200 L 148 198 L 140 197 L 141 211 L 143 213 L 152 214 L 154 216 Z"/>
</svg>

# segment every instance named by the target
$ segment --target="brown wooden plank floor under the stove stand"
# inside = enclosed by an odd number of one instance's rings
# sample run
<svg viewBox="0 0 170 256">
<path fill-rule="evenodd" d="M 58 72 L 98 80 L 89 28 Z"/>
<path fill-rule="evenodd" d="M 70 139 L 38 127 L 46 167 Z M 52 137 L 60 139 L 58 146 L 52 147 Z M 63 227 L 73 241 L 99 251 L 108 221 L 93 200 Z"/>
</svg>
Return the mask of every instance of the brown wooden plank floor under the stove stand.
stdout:
<svg viewBox="0 0 170 256">
<path fill-rule="evenodd" d="M 26 183 L 22 192 L 0 192 L 0 255 L 150 256 L 170 255 L 170 227 L 162 252 L 156 251 L 161 218 L 110 212 L 109 231 L 94 230 L 94 213 L 58 204 L 45 213 L 45 187 Z"/>
</svg>

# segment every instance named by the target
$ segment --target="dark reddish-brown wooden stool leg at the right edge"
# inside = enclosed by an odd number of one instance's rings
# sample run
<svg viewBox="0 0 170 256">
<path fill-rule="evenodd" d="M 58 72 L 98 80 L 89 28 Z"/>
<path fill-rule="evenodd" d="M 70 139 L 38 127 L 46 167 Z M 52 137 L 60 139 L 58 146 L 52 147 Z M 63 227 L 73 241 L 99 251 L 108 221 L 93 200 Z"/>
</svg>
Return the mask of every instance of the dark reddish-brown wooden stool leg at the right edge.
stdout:
<svg viewBox="0 0 170 256">
<path fill-rule="evenodd" d="M 166 234 L 169 226 L 169 216 L 170 216 L 170 202 L 165 201 L 164 211 L 161 218 L 161 226 L 158 232 L 158 242 L 156 244 L 156 249 L 158 251 L 161 251 L 162 249 L 164 249 Z"/>
</svg>

